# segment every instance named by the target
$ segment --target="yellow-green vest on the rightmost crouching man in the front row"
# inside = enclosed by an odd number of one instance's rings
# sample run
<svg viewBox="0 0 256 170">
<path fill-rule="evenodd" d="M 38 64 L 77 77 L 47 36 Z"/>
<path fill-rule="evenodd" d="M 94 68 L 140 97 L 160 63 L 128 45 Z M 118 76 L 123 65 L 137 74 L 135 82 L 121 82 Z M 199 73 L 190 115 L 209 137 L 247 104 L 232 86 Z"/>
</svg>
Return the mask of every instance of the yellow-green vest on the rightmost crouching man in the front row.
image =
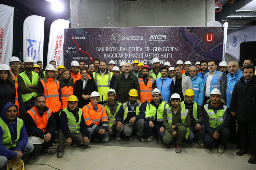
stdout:
<svg viewBox="0 0 256 170">
<path fill-rule="evenodd" d="M 208 113 L 209 123 L 212 128 L 217 128 L 224 121 L 223 116 L 227 110 L 227 106 L 223 105 L 223 109 L 218 109 L 215 114 L 213 109 L 208 109 L 208 104 L 204 105 L 205 111 Z"/>
</svg>

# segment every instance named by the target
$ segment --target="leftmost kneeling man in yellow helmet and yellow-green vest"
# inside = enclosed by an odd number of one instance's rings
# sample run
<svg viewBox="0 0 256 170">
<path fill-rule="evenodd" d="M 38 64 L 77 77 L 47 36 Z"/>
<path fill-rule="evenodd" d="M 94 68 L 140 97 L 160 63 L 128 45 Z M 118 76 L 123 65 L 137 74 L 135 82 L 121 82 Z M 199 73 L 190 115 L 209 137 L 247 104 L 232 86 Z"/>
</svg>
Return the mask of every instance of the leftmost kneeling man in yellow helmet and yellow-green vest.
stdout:
<svg viewBox="0 0 256 170">
<path fill-rule="evenodd" d="M 77 148 L 78 145 L 90 147 L 87 137 L 87 126 L 83 119 L 82 109 L 77 107 L 78 100 L 74 95 L 69 96 L 68 106 L 63 109 L 60 115 L 59 147 L 57 157 L 62 158 L 64 145 Z M 80 132 L 81 131 L 81 132 Z"/>
</svg>

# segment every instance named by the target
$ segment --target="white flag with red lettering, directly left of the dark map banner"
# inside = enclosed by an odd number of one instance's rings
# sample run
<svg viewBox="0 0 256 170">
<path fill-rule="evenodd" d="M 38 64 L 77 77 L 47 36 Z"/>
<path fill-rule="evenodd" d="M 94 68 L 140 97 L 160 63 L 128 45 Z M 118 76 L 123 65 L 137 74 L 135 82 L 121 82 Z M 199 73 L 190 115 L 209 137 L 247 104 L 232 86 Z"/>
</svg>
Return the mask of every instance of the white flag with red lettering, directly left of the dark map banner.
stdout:
<svg viewBox="0 0 256 170">
<path fill-rule="evenodd" d="M 56 62 L 56 67 L 63 65 L 64 29 L 69 28 L 69 22 L 65 19 L 53 21 L 50 28 L 47 65 L 52 60 Z"/>
</svg>

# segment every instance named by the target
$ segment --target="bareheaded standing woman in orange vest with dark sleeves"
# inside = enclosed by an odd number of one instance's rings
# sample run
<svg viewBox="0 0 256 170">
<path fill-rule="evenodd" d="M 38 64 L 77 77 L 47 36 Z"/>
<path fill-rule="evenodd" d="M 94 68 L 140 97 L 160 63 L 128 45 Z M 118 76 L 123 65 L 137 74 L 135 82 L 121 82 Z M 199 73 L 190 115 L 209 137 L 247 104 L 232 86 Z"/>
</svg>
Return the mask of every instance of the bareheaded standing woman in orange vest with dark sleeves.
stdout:
<svg viewBox="0 0 256 170">
<path fill-rule="evenodd" d="M 68 98 L 69 96 L 73 95 L 73 89 L 74 89 L 74 81 L 73 81 L 73 78 L 70 76 L 69 69 L 66 68 L 62 70 L 59 77 L 59 85 L 61 88 L 61 101 L 62 101 L 62 106 L 60 107 L 60 109 L 63 110 L 67 107 Z"/>
</svg>

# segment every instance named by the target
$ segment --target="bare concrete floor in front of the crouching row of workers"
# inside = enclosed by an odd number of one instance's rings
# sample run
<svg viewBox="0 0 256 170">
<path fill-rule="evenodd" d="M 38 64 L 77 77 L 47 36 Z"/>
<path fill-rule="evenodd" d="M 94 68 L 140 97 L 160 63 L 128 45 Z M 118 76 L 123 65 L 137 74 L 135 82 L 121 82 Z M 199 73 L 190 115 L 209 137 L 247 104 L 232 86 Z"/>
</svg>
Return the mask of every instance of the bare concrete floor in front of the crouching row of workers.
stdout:
<svg viewBox="0 0 256 170">
<path fill-rule="evenodd" d="M 256 164 L 247 160 L 251 154 L 237 156 L 239 150 L 225 150 L 224 154 L 217 149 L 188 149 L 175 153 L 175 148 L 142 148 L 91 145 L 90 148 L 79 146 L 65 147 L 63 158 L 56 154 L 40 154 L 30 158 L 29 163 L 48 164 L 61 170 L 256 170 Z M 45 165 L 26 165 L 26 170 L 54 170 Z"/>
</svg>

